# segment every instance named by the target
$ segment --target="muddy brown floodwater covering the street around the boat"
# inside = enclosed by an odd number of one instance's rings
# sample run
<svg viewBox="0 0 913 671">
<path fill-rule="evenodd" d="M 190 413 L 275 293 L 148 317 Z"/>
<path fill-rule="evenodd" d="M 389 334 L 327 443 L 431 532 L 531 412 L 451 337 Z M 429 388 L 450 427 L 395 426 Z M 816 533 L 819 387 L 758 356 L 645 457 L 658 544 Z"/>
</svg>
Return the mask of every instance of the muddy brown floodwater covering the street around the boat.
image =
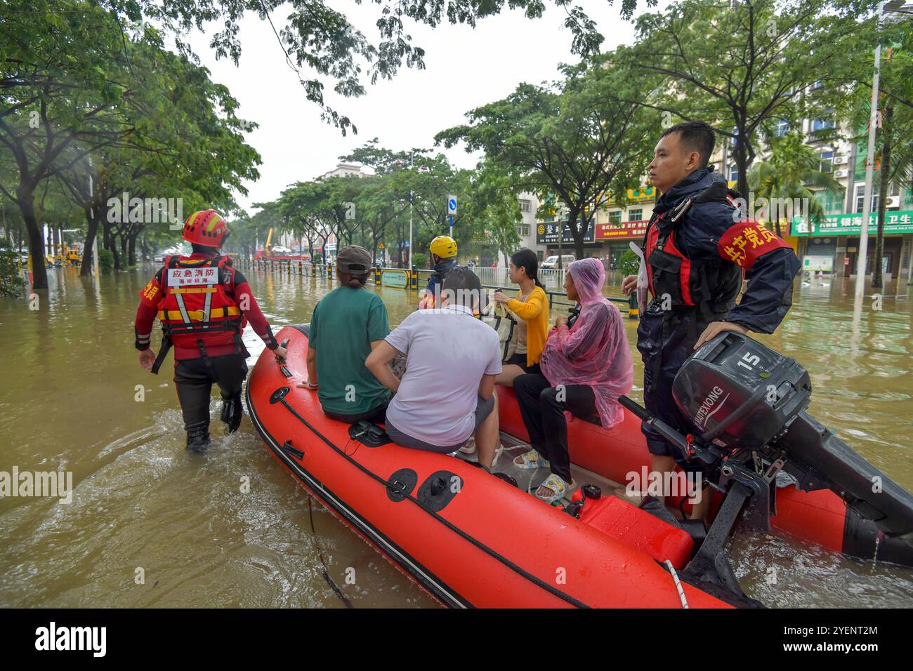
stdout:
<svg viewBox="0 0 913 671">
<path fill-rule="evenodd" d="M 327 291 L 326 279 L 243 268 L 274 331 L 310 320 Z M 355 607 L 434 606 L 319 504 L 309 515 L 307 495 L 269 456 L 249 418 L 226 435 L 217 394 L 208 454 L 184 450 L 171 357 L 153 376 L 133 349 L 138 293 L 153 271 L 96 282 L 61 268 L 48 271 L 51 288 L 38 297 L 39 309 L 0 299 L 0 470 L 72 471 L 75 486 L 69 505 L 0 499 L 0 605 L 341 607 L 322 575 L 320 549 Z M 617 296 L 621 278 L 613 281 L 609 293 Z M 392 326 L 415 305 L 415 293 L 377 290 Z M 907 292 L 904 284 L 884 291 Z M 760 338 L 811 373 L 810 414 L 908 490 L 911 302 L 884 299 L 873 310 L 866 299 L 854 335 L 848 280 L 797 282 L 781 330 Z M 635 352 L 632 396 L 640 401 L 635 324 L 628 321 L 627 335 Z M 252 365 L 262 343 L 247 331 Z M 796 540 L 740 536 L 732 558 L 745 591 L 769 606 L 913 604 L 913 571 Z M 345 582 L 350 568 L 355 584 Z"/>
</svg>

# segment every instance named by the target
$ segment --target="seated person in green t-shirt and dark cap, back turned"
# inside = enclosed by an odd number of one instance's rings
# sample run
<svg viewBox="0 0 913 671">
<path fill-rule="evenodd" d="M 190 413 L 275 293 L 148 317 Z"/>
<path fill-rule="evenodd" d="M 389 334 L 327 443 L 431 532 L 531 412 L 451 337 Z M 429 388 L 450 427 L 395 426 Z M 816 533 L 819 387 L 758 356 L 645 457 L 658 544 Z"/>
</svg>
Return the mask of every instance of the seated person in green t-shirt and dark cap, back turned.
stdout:
<svg viewBox="0 0 913 671">
<path fill-rule="evenodd" d="M 323 412 L 354 424 L 362 419 L 383 422 L 390 393 L 365 367 L 368 354 L 390 333 L 383 300 L 364 288 L 371 255 L 351 245 L 336 257 L 340 286 L 320 299 L 310 318 L 308 382 L 318 390 Z"/>
</svg>

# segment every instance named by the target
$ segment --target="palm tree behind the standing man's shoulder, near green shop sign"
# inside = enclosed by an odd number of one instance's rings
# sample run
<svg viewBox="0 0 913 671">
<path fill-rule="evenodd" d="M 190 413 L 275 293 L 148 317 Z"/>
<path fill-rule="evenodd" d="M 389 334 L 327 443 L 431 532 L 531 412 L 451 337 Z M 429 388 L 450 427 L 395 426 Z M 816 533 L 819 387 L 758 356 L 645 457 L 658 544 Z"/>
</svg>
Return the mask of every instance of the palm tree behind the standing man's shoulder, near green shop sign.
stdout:
<svg viewBox="0 0 913 671">
<path fill-rule="evenodd" d="M 810 223 L 818 223 L 825 214 L 818 194 L 844 190 L 844 186 L 821 167 L 821 157 L 813 147 L 805 144 L 802 133 L 791 132 L 771 138 L 770 155 L 755 163 L 748 172 L 749 188 L 755 199 L 766 198 L 768 203 L 795 202 L 795 199 L 807 202 L 808 212 L 803 215 Z M 774 232 L 782 236 L 781 220 L 774 219 L 773 225 Z"/>
</svg>

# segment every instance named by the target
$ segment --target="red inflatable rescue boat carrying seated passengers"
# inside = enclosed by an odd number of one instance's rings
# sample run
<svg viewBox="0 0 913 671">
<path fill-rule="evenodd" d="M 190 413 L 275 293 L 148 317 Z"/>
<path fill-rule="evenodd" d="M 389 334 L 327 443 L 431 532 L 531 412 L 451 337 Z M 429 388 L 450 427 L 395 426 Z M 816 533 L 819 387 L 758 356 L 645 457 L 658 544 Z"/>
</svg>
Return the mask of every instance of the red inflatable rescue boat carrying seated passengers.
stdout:
<svg viewBox="0 0 913 671">
<path fill-rule="evenodd" d="M 603 486 L 603 496 L 584 498 L 574 517 L 470 460 L 397 446 L 385 434 L 359 434 L 359 427 L 326 417 L 317 393 L 297 386 L 307 377 L 307 327 L 286 327 L 277 338 L 288 341 L 287 362 L 280 364 L 265 351 L 247 383 L 257 432 L 310 495 L 441 603 L 623 608 L 750 603 L 718 585 L 687 582 L 678 571 L 695 555 L 692 537 L 610 496 L 612 489 L 606 488 L 612 483 L 649 464 L 633 414 L 611 430 L 569 415 L 574 477 Z M 495 471 L 528 449 L 512 390 L 497 389 L 504 453 Z M 859 546 L 869 540 L 876 545 L 863 524 L 868 520 L 830 490 L 782 488 L 776 505 L 773 525 L 795 536 L 856 555 L 865 553 Z"/>
</svg>

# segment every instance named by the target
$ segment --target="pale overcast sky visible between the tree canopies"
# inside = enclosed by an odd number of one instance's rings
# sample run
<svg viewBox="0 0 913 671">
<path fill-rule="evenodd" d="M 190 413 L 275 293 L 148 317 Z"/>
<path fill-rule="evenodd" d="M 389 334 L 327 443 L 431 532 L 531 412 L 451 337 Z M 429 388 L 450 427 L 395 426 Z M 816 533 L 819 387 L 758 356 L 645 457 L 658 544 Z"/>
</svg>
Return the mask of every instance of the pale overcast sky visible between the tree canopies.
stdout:
<svg viewBox="0 0 913 671">
<path fill-rule="evenodd" d="M 618 0 L 577 0 L 605 36 L 603 51 L 634 40 L 634 26 L 619 16 Z M 374 44 L 380 8 L 365 0 L 330 0 Z M 643 3 L 642 3 L 643 4 Z M 666 6 L 661 2 L 660 6 Z M 225 84 L 240 102 L 238 115 L 256 121 L 259 128 L 247 142 L 263 160 L 260 179 L 247 183 L 248 194 L 238 203 L 248 213 L 251 204 L 278 197 L 289 183 L 310 180 L 336 166 L 339 156 L 377 137 L 392 150 L 430 148 L 438 131 L 464 121 L 464 113 L 506 97 L 520 82 L 538 84 L 558 78 L 558 64 L 577 62 L 571 53 L 572 34 L 562 26 L 565 13 L 547 3 L 540 19 L 527 19 L 519 11 L 504 11 L 483 19 L 475 29 L 443 24 L 406 26 L 414 44 L 425 48 L 425 69 L 402 68 L 393 80 L 374 86 L 357 99 L 342 99 L 325 80 L 327 103 L 346 114 L 358 134 L 342 137 L 340 131 L 320 121 L 319 108 L 305 98 L 297 76 L 285 62 L 268 22 L 248 14 L 241 23 L 242 54 L 236 67 L 229 59 L 216 60 L 209 37 L 190 37 L 194 51 L 210 69 L 212 79 Z M 272 15 L 277 30 L 285 25 L 287 8 Z M 210 34 L 217 28 L 212 26 Z M 308 79 L 310 73 L 302 69 Z M 455 147 L 446 152 L 451 162 L 473 167 L 477 155 Z"/>
</svg>

